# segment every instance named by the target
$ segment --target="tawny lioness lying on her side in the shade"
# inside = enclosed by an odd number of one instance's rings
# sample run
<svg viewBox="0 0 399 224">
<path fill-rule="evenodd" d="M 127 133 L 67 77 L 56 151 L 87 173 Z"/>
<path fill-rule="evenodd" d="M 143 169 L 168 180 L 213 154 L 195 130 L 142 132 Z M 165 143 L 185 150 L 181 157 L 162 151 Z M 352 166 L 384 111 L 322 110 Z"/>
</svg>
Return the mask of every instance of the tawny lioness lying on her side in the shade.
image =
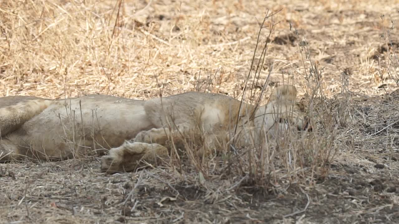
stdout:
<svg viewBox="0 0 399 224">
<path fill-rule="evenodd" d="M 0 98 L 0 161 L 30 157 L 68 159 L 85 151 L 102 157 L 107 173 L 132 171 L 142 161 L 156 163 L 175 145 L 203 136 L 198 150 L 235 147 L 273 138 L 279 128 L 308 128 L 294 86 L 275 89 L 264 106 L 229 96 L 186 92 L 147 101 L 106 95 L 64 100 L 32 96 Z M 237 117 L 238 122 L 237 122 Z M 236 126 L 237 124 L 237 126 Z M 206 145 L 206 147 L 205 147 Z M 201 151 L 202 150 L 202 151 Z"/>
</svg>

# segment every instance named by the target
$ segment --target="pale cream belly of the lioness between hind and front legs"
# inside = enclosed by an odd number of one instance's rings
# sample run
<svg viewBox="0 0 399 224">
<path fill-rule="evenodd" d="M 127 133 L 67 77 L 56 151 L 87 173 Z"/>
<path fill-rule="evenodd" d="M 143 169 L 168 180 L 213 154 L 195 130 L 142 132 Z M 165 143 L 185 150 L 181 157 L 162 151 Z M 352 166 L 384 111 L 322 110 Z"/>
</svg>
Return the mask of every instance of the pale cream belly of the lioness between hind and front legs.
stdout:
<svg viewBox="0 0 399 224">
<path fill-rule="evenodd" d="M 103 153 L 152 127 L 143 101 L 85 96 L 55 102 L 10 138 L 22 143 L 26 154 L 63 159 L 83 151 Z"/>
</svg>

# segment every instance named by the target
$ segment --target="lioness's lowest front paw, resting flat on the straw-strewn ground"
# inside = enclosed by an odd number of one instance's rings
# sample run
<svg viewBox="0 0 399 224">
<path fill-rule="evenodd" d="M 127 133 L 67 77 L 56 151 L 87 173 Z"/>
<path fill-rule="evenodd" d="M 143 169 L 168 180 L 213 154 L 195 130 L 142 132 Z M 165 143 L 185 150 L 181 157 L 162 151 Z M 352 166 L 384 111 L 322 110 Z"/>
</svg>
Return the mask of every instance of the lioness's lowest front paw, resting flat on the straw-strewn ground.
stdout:
<svg viewBox="0 0 399 224">
<path fill-rule="evenodd" d="M 121 146 L 109 150 L 101 158 L 101 171 L 112 174 L 133 171 L 146 165 L 157 165 L 168 157 L 168 149 L 156 143 L 125 141 Z"/>
</svg>

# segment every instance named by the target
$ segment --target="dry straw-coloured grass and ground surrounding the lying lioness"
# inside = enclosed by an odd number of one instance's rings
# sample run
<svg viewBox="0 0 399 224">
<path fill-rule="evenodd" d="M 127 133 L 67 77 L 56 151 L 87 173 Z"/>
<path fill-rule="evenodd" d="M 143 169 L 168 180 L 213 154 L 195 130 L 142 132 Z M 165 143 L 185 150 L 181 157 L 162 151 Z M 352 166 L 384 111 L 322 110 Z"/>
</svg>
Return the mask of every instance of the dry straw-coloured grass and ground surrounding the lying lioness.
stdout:
<svg viewBox="0 0 399 224">
<path fill-rule="evenodd" d="M 399 222 L 395 4 L 0 2 L 3 96 L 198 90 L 255 102 L 294 83 L 315 117 L 310 134 L 136 173 L 105 176 L 93 156 L 0 164 L 0 222 Z M 267 9 L 279 13 L 254 57 Z"/>
</svg>

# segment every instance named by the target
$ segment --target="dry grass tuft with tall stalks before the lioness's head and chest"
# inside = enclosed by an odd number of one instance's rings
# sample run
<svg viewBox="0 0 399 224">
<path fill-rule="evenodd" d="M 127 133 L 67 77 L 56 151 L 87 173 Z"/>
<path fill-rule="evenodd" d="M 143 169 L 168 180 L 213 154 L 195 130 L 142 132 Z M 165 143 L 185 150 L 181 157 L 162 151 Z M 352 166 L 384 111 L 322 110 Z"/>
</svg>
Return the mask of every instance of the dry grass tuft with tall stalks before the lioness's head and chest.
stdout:
<svg viewBox="0 0 399 224">
<path fill-rule="evenodd" d="M 273 67 L 269 69 L 269 74 L 263 83 L 260 83 L 259 77 L 261 76 L 260 68 L 263 67 L 265 58 L 267 58 L 267 49 L 273 28 L 277 24 L 273 19 L 274 16 L 275 14 L 268 11 L 263 22 L 260 23 L 251 69 L 240 93 L 242 96 L 240 97 L 241 102 L 259 106 L 260 102 L 263 101 L 262 97 L 264 97 L 265 91 L 272 88 L 272 85 L 269 84 L 269 77 Z M 268 29 L 267 34 L 263 34 L 265 28 Z M 295 30 L 294 33 L 298 36 L 298 31 Z M 190 140 L 197 139 L 199 144 L 188 143 L 193 141 L 185 142 L 184 148 L 189 162 L 184 162 L 180 157 L 177 160 L 173 159 L 174 155 L 178 154 L 178 149 L 175 147 L 172 153 L 172 161 L 178 161 L 178 163 L 171 163 L 173 169 L 182 174 L 192 174 L 195 171 L 202 181 L 217 176 L 222 179 L 230 179 L 234 183 L 237 182 L 238 177 L 239 182 L 235 184 L 236 187 L 256 186 L 262 187 L 266 191 L 284 188 L 293 183 L 313 185 L 316 181 L 324 179 L 328 175 L 330 162 L 336 153 L 334 141 L 337 138 L 336 130 L 340 124 L 337 120 L 334 120 L 336 114 L 329 108 L 327 99 L 323 94 L 322 71 L 318 68 L 317 63 L 312 61 L 306 39 L 304 35 L 302 37 L 303 41 L 298 43 L 298 48 L 303 58 L 304 67 L 306 66 L 304 60 L 308 60 L 311 66 L 310 68 L 305 67 L 305 70 L 310 72 L 305 72 L 302 75 L 308 83 L 307 113 L 308 117 L 312 118 L 311 126 L 314 127 L 314 130 L 312 132 L 298 132 L 296 127 L 288 125 L 286 129 L 279 130 L 273 139 L 268 139 L 265 133 L 263 138 L 251 139 L 249 147 L 238 149 L 234 145 L 238 126 L 237 118 L 237 120 L 231 121 L 230 132 L 233 141 L 220 142 L 219 144 L 219 147 L 223 149 L 221 156 L 214 153 L 207 158 L 199 157 L 198 145 L 203 145 L 202 147 L 209 147 L 209 145 L 207 145 L 205 136 L 192 136 Z M 298 72 L 298 74 L 300 73 Z M 211 85 L 217 83 L 212 79 L 211 73 L 207 75 L 206 80 L 205 88 L 197 84 L 196 89 L 198 91 L 209 91 Z M 285 84 L 292 84 L 292 80 L 285 80 Z M 257 88 L 257 86 L 260 86 L 260 88 Z M 316 109 L 314 107 L 316 101 L 322 107 Z M 340 114 L 338 117 L 346 116 L 347 111 L 343 109 L 344 106 L 339 106 Z M 245 110 L 245 108 L 242 107 L 241 110 Z M 278 107 L 277 110 L 279 110 Z M 244 131 L 249 132 L 249 130 Z M 212 148 L 204 150 L 215 151 Z"/>
</svg>

